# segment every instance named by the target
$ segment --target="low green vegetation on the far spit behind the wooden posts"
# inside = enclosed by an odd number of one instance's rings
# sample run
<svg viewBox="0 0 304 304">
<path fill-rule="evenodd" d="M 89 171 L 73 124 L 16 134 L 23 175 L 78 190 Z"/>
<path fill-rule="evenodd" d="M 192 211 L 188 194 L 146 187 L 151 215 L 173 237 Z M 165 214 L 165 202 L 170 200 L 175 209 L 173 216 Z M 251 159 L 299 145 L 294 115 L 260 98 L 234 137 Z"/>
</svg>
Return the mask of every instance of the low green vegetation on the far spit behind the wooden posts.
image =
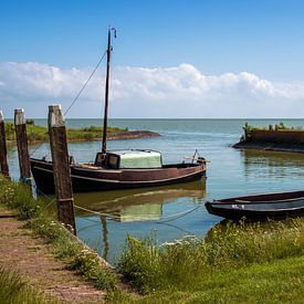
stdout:
<svg viewBox="0 0 304 304">
<path fill-rule="evenodd" d="M 127 129 L 108 127 L 107 134 L 117 134 Z M 27 133 L 29 141 L 49 140 L 48 127 L 35 125 L 33 119 L 27 119 Z M 93 140 L 103 136 L 103 127 L 67 128 L 67 140 Z M 6 123 L 6 137 L 8 140 L 15 140 L 14 124 Z"/>
</svg>

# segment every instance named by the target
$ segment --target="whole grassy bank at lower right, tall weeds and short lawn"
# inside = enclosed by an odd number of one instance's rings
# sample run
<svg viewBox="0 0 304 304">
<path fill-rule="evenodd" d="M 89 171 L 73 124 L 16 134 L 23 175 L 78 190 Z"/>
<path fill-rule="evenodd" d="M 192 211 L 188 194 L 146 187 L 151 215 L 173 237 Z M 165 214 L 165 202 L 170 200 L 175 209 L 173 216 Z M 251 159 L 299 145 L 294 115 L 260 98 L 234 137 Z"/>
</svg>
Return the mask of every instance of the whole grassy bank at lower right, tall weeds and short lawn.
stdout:
<svg viewBox="0 0 304 304">
<path fill-rule="evenodd" d="M 158 247 L 128 235 L 118 270 L 143 303 L 303 301 L 304 222 L 229 222 Z M 273 289 L 273 291 L 271 290 Z"/>
</svg>

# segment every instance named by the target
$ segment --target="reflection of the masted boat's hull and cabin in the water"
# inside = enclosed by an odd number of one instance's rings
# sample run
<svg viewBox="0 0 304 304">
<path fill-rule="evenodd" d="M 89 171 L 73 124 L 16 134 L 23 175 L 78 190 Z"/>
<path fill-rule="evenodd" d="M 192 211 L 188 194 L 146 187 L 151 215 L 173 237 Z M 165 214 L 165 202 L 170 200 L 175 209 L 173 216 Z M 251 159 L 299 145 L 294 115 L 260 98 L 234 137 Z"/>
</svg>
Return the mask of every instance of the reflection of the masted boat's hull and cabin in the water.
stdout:
<svg viewBox="0 0 304 304">
<path fill-rule="evenodd" d="M 120 222 L 158 220 L 163 216 L 163 205 L 174 202 L 181 198 L 192 200 L 206 196 L 206 182 L 192 181 L 158 188 L 132 189 L 105 192 L 75 193 L 77 216 L 92 216 L 97 211 L 108 218 Z"/>
</svg>

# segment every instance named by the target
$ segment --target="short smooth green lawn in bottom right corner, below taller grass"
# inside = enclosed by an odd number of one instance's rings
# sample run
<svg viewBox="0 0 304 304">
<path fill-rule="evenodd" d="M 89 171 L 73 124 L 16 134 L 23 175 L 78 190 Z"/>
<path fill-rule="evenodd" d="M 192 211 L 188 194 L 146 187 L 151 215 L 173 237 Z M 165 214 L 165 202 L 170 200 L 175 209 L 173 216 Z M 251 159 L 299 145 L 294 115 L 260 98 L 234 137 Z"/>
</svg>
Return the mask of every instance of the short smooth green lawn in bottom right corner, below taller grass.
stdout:
<svg viewBox="0 0 304 304">
<path fill-rule="evenodd" d="M 196 289 L 157 290 L 133 303 L 303 303 L 304 256 L 214 270 Z M 129 303 L 129 302 L 128 302 Z"/>
</svg>

